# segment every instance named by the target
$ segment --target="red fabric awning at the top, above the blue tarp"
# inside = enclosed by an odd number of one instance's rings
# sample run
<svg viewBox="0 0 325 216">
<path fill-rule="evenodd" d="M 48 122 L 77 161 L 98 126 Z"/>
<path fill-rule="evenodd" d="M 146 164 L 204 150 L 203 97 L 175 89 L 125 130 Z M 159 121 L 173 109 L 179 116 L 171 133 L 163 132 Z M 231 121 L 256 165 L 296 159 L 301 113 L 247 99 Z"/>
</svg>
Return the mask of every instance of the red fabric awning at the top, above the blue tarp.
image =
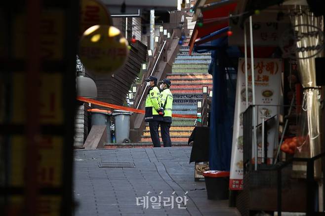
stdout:
<svg viewBox="0 0 325 216">
<path fill-rule="evenodd" d="M 229 13 L 234 11 L 237 6 L 236 0 L 223 0 L 210 4 L 205 4 L 201 8 L 203 26 L 199 27 L 197 21 L 193 30 L 192 37 L 190 39 L 190 55 L 194 43 L 197 42 L 198 38 L 209 36 L 211 33 L 218 32 L 219 30 L 225 29 L 229 25 Z M 217 36 L 215 38 L 218 38 Z M 215 39 L 209 37 L 210 40 Z M 207 42 L 208 40 L 204 41 Z"/>
</svg>

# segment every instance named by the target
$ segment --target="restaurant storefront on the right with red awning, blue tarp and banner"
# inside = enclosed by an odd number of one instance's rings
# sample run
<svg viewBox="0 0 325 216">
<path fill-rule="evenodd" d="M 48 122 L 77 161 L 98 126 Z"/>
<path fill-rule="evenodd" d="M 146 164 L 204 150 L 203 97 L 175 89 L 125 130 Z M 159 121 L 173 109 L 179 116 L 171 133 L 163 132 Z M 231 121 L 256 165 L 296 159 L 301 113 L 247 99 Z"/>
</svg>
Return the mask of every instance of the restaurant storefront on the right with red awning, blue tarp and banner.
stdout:
<svg viewBox="0 0 325 216">
<path fill-rule="evenodd" d="M 324 211 L 320 15 L 292 0 L 196 5 L 190 49 L 213 58 L 209 166 L 230 171 L 243 215 Z"/>
</svg>

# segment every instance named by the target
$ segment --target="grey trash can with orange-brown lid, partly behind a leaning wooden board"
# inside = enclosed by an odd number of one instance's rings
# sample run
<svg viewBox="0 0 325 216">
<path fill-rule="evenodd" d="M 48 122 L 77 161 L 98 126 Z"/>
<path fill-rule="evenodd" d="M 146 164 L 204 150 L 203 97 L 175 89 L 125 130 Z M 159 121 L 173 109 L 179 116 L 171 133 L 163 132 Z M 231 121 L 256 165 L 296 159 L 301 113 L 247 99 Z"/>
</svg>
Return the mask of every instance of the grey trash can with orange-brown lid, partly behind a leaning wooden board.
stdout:
<svg viewBox="0 0 325 216">
<path fill-rule="evenodd" d="M 91 127 L 93 125 L 106 125 L 107 142 L 112 143 L 111 111 L 105 109 L 88 109 L 91 113 Z"/>
</svg>

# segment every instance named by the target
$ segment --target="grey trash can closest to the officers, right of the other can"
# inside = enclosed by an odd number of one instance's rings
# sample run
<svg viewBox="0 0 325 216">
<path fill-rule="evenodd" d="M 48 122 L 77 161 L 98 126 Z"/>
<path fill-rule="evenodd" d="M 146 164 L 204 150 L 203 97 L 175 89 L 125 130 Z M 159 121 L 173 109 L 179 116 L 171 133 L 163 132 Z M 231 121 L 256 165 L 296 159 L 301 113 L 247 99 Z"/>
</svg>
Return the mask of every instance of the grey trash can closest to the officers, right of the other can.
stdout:
<svg viewBox="0 0 325 216">
<path fill-rule="evenodd" d="M 114 109 L 113 116 L 115 119 L 115 142 L 129 143 L 130 137 L 130 115 L 133 112 Z"/>
</svg>

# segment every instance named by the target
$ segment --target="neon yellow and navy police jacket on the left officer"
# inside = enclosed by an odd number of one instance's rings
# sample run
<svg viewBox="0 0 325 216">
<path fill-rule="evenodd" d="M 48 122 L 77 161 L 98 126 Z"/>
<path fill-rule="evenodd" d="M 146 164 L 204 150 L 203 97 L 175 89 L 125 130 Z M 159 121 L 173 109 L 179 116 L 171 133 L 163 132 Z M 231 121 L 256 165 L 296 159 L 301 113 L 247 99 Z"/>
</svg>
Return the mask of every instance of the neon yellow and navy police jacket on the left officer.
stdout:
<svg viewBox="0 0 325 216">
<path fill-rule="evenodd" d="M 161 96 L 157 86 L 150 87 L 146 98 L 145 121 L 161 121 L 158 110 L 161 108 Z"/>
</svg>

